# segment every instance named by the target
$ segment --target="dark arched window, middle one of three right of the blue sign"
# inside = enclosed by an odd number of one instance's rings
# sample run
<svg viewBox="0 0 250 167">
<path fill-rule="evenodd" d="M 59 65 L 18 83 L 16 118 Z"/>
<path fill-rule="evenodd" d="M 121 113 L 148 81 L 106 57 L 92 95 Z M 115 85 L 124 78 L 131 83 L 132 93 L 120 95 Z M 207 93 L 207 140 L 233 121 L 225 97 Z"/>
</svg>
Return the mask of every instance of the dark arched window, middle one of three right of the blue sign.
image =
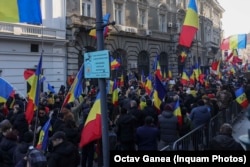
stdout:
<svg viewBox="0 0 250 167">
<path fill-rule="evenodd" d="M 147 51 L 141 51 L 138 55 L 138 73 L 141 75 L 142 71 L 145 76 L 149 75 L 149 53 Z"/>
</svg>

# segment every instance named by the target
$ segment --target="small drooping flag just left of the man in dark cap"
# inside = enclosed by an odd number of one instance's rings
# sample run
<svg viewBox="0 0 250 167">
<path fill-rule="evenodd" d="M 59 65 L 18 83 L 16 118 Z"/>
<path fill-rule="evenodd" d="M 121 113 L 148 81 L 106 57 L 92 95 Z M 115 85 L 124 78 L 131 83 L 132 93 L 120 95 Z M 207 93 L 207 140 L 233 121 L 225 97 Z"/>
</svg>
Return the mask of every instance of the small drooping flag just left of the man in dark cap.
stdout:
<svg viewBox="0 0 250 167">
<path fill-rule="evenodd" d="M 46 151 L 49 143 L 49 130 L 51 128 L 50 120 L 51 119 L 48 119 L 39 133 L 39 139 L 36 148 L 42 151 Z"/>
</svg>

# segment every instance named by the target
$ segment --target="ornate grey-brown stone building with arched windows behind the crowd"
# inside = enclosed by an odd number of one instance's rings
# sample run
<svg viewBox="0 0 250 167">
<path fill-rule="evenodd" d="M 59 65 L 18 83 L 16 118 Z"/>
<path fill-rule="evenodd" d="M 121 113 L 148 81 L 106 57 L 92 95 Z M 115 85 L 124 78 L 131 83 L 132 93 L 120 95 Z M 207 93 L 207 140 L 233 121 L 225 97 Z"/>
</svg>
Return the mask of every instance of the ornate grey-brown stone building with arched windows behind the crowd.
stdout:
<svg viewBox="0 0 250 167">
<path fill-rule="evenodd" d="M 196 0 L 200 27 L 193 44 L 187 51 L 187 59 L 180 63 L 179 33 L 183 24 L 188 0 L 103 0 L 103 14 L 110 13 L 110 32 L 105 38 L 105 49 L 121 60 L 121 73 L 136 71 L 145 76 L 153 70 L 153 62 L 159 55 L 162 70 L 171 69 L 174 76 L 180 67 L 189 68 L 199 63 L 207 68 L 220 55 L 222 38 L 221 18 L 224 9 L 217 0 Z M 96 39 L 89 36 L 95 27 L 95 0 L 67 1 L 68 75 L 78 71 L 85 52 L 96 50 Z M 179 68 L 178 68 L 179 67 Z"/>
</svg>

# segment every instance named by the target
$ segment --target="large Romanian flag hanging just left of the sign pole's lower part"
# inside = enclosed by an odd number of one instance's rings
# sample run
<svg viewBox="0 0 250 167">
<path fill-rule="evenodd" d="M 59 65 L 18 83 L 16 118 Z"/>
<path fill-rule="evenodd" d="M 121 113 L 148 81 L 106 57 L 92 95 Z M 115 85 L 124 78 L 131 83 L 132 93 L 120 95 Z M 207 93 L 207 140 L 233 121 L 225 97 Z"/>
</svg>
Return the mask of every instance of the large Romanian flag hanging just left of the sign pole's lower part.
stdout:
<svg viewBox="0 0 250 167">
<path fill-rule="evenodd" d="M 101 137 L 101 101 L 100 93 L 98 93 L 82 129 L 81 141 L 79 145 L 80 147 L 83 147 L 94 140 L 100 139 Z"/>
</svg>

